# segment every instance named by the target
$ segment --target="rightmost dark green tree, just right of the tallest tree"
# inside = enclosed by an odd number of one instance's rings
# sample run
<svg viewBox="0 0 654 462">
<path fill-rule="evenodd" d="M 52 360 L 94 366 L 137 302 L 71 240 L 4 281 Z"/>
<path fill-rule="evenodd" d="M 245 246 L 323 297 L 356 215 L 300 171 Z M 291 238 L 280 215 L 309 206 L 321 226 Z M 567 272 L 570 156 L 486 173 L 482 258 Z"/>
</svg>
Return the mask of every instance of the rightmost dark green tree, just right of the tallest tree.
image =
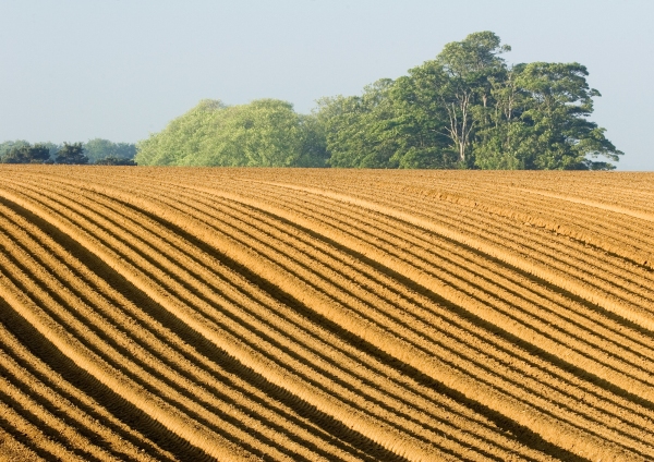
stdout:
<svg viewBox="0 0 654 462">
<path fill-rule="evenodd" d="M 593 97 L 579 63 L 534 62 L 494 82 L 489 123 L 479 130 L 476 165 L 486 169 L 613 169 L 621 151 L 588 120 Z"/>
</svg>

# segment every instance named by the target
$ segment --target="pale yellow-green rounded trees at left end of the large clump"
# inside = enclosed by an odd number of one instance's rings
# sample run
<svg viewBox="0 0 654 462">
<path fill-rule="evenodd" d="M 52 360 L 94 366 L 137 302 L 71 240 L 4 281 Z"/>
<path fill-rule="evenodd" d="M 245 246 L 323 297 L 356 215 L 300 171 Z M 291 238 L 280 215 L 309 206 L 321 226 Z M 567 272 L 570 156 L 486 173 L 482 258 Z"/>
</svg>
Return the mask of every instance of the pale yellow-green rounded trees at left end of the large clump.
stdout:
<svg viewBox="0 0 654 462">
<path fill-rule="evenodd" d="M 137 144 L 140 165 L 322 167 L 326 150 L 316 120 L 290 102 L 259 99 L 227 107 L 203 100 Z"/>
</svg>

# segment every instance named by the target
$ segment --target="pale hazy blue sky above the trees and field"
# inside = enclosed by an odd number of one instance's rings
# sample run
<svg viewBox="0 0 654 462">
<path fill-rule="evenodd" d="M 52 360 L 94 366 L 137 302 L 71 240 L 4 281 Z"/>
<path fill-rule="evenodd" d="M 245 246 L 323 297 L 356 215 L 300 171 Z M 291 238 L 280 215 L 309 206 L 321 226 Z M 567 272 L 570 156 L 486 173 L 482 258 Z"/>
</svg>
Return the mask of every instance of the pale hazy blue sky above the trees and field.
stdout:
<svg viewBox="0 0 654 462">
<path fill-rule="evenodd" d="M 493 31 L 509 62 L 577 61 L 592 120 L 654 170 L 654 1 L 0 0 L 0 142 L 136 142 L 203 98 L 308 112 Z"/>
</svg>

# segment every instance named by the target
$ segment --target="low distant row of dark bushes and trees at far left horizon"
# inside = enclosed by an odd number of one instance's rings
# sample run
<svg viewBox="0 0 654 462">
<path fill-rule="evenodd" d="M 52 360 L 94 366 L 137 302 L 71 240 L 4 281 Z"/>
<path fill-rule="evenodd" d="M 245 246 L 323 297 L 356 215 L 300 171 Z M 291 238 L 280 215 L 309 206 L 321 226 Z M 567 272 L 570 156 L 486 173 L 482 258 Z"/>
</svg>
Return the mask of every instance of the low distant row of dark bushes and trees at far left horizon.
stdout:
<svg viewBox="0 0 654 462">
<path fill-rule="evenodd" d="M 2 163 L 63 163 L 135 166 L 136 145 L 95 138 L 87 143 L 31 143 L 19 139 L 0 143 Z"/>
</svg>

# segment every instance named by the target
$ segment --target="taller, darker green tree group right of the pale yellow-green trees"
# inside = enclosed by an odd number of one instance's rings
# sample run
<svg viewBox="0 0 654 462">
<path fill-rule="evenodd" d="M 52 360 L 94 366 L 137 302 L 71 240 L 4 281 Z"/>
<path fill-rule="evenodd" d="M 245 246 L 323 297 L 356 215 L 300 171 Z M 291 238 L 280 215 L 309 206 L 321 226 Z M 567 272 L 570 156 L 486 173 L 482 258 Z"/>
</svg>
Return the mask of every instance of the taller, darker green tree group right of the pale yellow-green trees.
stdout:
<svg viewBox="0 0 654 462">
<path fill-rule="evenodd" d="M 517 64 L 492 32 L 447 44 L 435 60 L 362 96 L 318 101 L 328 163 L 349 168 L 600 169 L 621 151 L 590 122 L 578 63 Z"/>
</svg>

